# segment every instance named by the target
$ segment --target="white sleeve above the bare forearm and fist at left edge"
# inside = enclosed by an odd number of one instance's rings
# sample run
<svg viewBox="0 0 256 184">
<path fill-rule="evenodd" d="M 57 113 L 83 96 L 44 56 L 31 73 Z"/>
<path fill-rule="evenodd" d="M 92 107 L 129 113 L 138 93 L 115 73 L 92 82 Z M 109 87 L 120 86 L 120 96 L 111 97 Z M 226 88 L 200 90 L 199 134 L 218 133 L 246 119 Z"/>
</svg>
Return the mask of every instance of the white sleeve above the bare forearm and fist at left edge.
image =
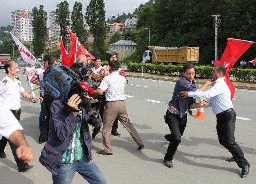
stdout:
<svg viewBox="0 0 256 184">
<path fill-rule="evenodd" d="M 23 128 L 0 99 L 0 134 L 8 139 L 15 130 L 23 130 Z"/>
</svg>

